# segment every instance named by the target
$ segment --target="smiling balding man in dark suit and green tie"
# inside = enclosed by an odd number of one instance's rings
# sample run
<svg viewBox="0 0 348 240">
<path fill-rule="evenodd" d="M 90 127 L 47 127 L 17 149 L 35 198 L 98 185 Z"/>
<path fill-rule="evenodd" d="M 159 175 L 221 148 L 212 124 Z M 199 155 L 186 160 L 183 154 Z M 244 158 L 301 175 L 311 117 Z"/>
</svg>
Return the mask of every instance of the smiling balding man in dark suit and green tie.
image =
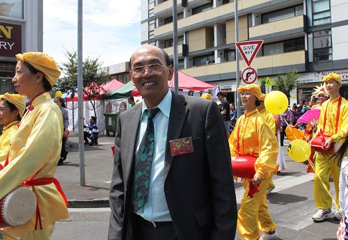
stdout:
<svg viewBox="0 0 348 240">
<path fill-rule="evenodd" d="M 168 89 L 173 66 L 152 45 L 134 51 L 142 104 L 118 118 L 109 239 L 235 239 L 230 148 L 216 104 Z"/>
</svg>

